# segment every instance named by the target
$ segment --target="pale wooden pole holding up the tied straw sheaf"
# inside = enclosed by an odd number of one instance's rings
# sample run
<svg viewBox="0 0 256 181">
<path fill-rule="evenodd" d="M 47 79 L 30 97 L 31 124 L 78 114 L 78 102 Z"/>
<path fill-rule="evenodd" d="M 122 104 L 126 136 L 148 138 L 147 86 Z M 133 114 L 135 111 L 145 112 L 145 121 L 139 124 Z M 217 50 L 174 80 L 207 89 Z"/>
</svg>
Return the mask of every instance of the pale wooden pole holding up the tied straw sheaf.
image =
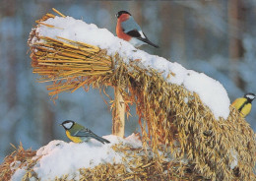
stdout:
<svg viewBox="0 0 256 181">
<path fill-rule="evenodd" d="M 113 113 L 112 134 L 118 137 L 124 137 L 125 126 L 125 105 L 119 87 L 114 88 L 115 109 Z"/>
</svg>

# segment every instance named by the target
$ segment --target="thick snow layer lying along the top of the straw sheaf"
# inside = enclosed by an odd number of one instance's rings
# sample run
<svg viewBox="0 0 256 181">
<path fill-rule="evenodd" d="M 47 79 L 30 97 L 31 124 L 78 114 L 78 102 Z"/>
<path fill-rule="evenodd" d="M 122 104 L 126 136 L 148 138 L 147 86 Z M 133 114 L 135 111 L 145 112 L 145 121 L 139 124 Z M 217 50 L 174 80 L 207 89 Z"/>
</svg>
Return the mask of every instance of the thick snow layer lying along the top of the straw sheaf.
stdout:
<svg viewBox="0 0 256 181">
<path fill-rule="evenodd" d="M 44 22 L 52 25 L 56 29 L 40 26 L 36 32 L 42 36 L 64 38 L 86 42 L 96 45 L 101 49 L 107 49 L 107 53 L 113 56 L 118 52 L 124 62 L 129 64 L 131 60 L 140 59 L 138 66 L 143 69 L 155 69 L 162 74 L 162 77 L 170 84 L 176 84 L 185 87 L 188 91 L 196 92 L 203 103 L 213 112 L 216 119 L 223 117 L 226 119 L 229 115 L 230 100 L 223 85 L 206 76 L 192 70 L 186 70 L 180 64 L 169 62 L 166 59 L 146 53 L 136 49 L 129 42 L 114 36 L 106 29 L 98 29 L 94 24 L 87 24 L 81 20 L 75 20 L 72 17 L 55 17 Z M 38 41 L 36 37 L 32 42 Z M 132 71 L 132 70 L 130 70 Z M 170 75 L 174 73 L 174 76 Z"/>
</svg>

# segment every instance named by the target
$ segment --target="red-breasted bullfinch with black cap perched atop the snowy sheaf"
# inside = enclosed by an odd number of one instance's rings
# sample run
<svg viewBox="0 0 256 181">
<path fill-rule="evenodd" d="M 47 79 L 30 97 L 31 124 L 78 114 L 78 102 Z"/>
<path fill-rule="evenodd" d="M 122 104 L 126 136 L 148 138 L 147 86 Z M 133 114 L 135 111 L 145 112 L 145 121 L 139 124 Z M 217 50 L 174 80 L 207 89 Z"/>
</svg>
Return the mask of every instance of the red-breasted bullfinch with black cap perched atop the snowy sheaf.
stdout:
<svg viewBox="0 0 256 181">
<path fill-rule="evenodd" d="M 159 48 L 158 45 L 149 40 L 129 12 L 119 11 L 115 17 L 117 18 L 115 30 L 119 38 L 130 42 L 135 47 L 148 43 L 156 48 Z"/>
</svg>

